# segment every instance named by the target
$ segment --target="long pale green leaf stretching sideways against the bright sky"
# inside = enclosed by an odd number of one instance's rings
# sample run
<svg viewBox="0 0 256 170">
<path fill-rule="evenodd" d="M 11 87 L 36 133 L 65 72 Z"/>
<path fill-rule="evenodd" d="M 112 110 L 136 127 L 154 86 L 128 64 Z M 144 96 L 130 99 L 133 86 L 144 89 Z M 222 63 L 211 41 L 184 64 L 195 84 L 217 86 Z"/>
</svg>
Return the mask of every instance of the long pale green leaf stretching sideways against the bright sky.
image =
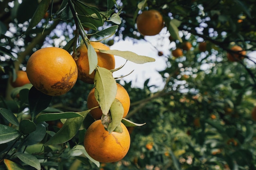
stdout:
<svg viewBox="0 0 256 170">
<path fill-rule="evenodd" d="M 144 64 L 147 62 L 155 62 L 154 58 L 147 57 L 144 55 L 137 55 L 131 51 L 119 51 L 119 50 L 99 50 L 101 53 L 107 53 L 123 57 L 126 60 L 134 62 L 136 64 Z"/>
</svg>

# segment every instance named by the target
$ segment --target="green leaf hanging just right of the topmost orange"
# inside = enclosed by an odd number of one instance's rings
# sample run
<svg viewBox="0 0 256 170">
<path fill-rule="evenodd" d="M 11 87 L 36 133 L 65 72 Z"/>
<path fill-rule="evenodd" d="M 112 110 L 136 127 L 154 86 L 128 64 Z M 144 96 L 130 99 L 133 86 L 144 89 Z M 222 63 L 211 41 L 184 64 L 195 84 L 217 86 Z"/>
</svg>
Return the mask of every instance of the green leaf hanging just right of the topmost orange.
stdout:
<svg viewBox="0 0 256 170">
<path fill-rule="evenodd" d="M 170 20 L 170 18 L 164 18 L 164 20 L 166 23 L 169 23 L 166 25 L 171 37 L 173 37 L 175 40 L 179 40 L 180 42 L 182 42 L 182 39 L 180 38 L 180 35 L 179 35 L 179 29 L 178 29 L 178 27 L 181 24 L 181 21 L 176 19 Z"/>
</svg>

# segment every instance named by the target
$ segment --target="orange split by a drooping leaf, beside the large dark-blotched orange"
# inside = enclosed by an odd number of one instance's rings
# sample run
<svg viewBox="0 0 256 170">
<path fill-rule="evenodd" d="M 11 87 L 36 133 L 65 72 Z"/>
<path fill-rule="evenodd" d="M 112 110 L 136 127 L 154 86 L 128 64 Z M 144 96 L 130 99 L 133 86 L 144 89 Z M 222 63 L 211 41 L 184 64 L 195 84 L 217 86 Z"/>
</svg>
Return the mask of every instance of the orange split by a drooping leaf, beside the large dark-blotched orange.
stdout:
<svg viewBox="0 0 256 170">
<path fill-rule="evenodd" d="M 109 50 L 110 48 L 101 42 L 90 42 L 90 44 L 95 49 L 98 56 L 98 66 L 107 68 L 108 70 L 112 70 L 115 68 L 115 57 L 111 54 L 101 53 L 97 49 L 101 50 Z M 77 53 L 79 53 L 78 60 L 76 60 L 76 65 L 78 68 L 78 78 L 83 82 L 88 84 L 94 83 L 95 72 L 89 74 L 89 61 L 88 61 L 88 50 L 85 44 L 80 45 L 76 49 Z"/>
</svg>

